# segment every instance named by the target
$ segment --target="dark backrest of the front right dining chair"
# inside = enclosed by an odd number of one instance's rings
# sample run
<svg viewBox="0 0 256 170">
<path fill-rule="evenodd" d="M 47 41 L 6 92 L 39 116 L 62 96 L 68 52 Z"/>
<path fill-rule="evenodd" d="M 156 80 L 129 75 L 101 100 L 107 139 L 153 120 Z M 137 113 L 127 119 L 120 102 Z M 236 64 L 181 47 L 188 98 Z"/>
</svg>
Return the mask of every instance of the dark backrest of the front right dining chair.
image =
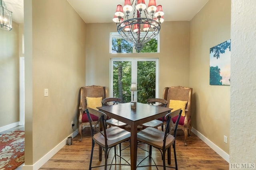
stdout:
<svg viewBox="0 0 256 170">
<path fill-rule="evenodd" d="M 172 118 L 178 115 L 178 118 L 176 122 L 174 123 L 174 138 L 176 137 L 176 131 L 178 127 L 178 122 L 180 121 L 180 116 L 182 113 L 182 109 L 177 109 L 175 111 L 172 111 L 171 113 L 168 113 L 165 118 L 166 118 L 166 129 L 165 129 L 165 134 L 164 134 L 164 145 L 166 143 L 166 137 L 170 134 L 171 132 L 171 127 L 173 126 Z"/>
</svg>

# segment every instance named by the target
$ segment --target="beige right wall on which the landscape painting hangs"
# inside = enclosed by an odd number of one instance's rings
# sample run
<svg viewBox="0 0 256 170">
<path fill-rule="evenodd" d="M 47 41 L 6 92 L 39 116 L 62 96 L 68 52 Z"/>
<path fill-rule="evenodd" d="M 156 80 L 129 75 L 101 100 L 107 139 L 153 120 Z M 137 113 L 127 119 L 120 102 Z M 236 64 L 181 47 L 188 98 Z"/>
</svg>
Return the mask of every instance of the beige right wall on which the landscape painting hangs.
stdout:
<svg viewBox="0 0 256 170">
<path fill-rule="evenodd" d="M 210 48 L 230 39 L 230 0 L 209 0 L 191 21 L 192 127 L 229 153 L 230 86 L 210 86 Z M 228 144 L 224 143 L 224 135 Z"/>
</svg>

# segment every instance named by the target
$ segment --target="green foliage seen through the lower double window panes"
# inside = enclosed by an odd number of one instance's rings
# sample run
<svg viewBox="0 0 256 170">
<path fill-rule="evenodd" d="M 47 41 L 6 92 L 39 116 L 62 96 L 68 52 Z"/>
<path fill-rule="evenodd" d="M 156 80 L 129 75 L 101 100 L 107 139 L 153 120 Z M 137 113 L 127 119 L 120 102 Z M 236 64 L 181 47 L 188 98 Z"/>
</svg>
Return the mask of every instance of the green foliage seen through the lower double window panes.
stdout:
<svg viewBox="0 0 256 170">
<path fill-rule="evenodd" d="M 118 68 L 122 68 L 122 75 Z M 156 96 L 156 62 L 138 61 L 137 63 L 137 101 L 146 103 L 148 98 Z M 121 98 L 121 102 L 131 100 L 131 62 L 114 61 L 113 65 L 113 97 Z M 121 84 L 121 85 L 120 85 Z"/>
</svg>

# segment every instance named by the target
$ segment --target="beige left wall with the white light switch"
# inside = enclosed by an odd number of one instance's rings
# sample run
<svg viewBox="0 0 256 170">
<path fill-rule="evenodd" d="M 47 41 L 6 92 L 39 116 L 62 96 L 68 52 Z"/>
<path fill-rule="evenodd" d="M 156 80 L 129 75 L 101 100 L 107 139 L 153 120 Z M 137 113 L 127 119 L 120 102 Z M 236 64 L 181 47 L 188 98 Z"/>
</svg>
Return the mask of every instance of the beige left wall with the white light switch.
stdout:
<svg viewBox="0 0 256 170">
<path fill-rule="evenodd" d="M 30 166 L 73 132 L 71 121 L 77 125 L 86 25 L 64 0 L 25 0 L 24 18 L 25 166 Z"/>
</svg>

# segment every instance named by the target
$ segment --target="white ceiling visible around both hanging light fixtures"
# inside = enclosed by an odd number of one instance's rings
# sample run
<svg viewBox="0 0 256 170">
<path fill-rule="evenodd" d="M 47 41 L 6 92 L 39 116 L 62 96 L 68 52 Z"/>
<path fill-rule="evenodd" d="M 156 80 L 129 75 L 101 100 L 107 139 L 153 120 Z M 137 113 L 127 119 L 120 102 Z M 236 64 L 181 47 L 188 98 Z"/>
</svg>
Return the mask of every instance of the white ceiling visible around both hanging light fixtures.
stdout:
<svg viewBox="0 0 256 170">
<path fill-rule="evenodd" d="M 4 0 L 8 10 L 12 11 L 12 20 L 24 23 L 23 0 Z M 85 23 L 112 22 L 116 6 L 124 0 L 68 0 Z M 131 0 L 132 2 L 132 0 Z M 149 0 L 145 0 L 148 4 Z M 190 21 L 208 0 L 156 0 L 162 5 L 164 21 Z"/>
</svg>

